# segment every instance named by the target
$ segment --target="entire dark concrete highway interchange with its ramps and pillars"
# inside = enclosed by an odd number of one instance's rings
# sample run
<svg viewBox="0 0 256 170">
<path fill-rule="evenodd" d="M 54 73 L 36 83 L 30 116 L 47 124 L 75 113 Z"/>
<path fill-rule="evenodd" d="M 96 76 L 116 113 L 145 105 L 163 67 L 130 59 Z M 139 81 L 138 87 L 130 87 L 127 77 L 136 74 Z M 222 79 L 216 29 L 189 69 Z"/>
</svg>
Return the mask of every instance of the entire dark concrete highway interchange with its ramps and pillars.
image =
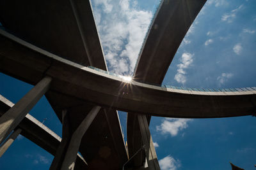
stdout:
<svg viewBox="0 0 256 170">
<path fill-rule="evenodd" d="M 90 1 L 1 1 L 0 70 L 35 87 L 13 107 L 0 97 L 0 142 L 20 132 L 55 156 L 50 169 L 160 169 L 148 129 L 151 116 L 255 114 L 255 87 L 159 86 L 204 3 L 161 1 L 133 80 L 127 81 L 108 73 Z M 27 115 L 44 94 L 63 124 L 63 139 Z M 128 148 L 116 110 L 128 112 Z"/>
</svg>

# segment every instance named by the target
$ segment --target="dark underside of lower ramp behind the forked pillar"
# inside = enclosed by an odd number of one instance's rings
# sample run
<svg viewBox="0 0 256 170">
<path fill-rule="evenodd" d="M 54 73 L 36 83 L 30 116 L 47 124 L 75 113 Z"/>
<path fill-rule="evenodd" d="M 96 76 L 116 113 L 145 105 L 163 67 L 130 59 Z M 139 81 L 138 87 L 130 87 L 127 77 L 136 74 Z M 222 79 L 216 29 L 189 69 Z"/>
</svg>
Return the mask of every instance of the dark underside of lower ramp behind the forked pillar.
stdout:
<svg viewBox="0 0 256 170">
<path fill-rule="evenodd" d="M 55 94 L 55 92 L 51 94 Z M 56 96 L 52 96 L 52 98 Z M 61 96 L 61 100 L 63 105 L 52 103 L 55 108 L 54 111 L 59 113 L 61 108 L 68 108 L 68 113 L 72 115 L 70 117 L 70 127 L 71 131 L 74 132 L 77 125 L 81 124 L 87 113 L 92 110 L 93 105 L 88 105 L 81 100 L 74 99 L 74 97 L 64 95 Z M 76 101 L 76 103 L 72 103 L 73 101 Z M 58 104 L 57 102 L 56 104 Z M 106 115 L 108 115 L 108 121 Z M 112 129 L 112 132 L 110 129 Z M 106 148 L 109 148 L 111 152 L 109 152 L 108 157 L 106 155 L 102 157 L 102 150 L 104 151 Z M 120 169 L 122 167 L 127 160 L 127 153 L 116 111 L 106 110 L 106 113 L 104 110 L 99 111 L 81 141 L 79 152 L 86 159 L 88 169 Z"/>
</svg>

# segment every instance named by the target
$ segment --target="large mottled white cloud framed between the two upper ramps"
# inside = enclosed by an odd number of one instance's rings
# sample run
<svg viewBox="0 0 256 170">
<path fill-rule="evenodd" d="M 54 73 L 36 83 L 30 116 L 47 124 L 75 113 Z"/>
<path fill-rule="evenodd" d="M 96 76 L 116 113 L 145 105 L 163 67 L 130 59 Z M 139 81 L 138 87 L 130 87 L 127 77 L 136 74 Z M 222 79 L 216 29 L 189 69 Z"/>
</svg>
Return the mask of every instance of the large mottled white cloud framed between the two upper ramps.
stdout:
<svg viewBox="0 0 256 170">
<path fill-rule="evenodd" d="M 92 5 L 109 71 L 132 73 L 152 12 L 138 10 L 129 0 L 97 0 Z"/>
</svg>

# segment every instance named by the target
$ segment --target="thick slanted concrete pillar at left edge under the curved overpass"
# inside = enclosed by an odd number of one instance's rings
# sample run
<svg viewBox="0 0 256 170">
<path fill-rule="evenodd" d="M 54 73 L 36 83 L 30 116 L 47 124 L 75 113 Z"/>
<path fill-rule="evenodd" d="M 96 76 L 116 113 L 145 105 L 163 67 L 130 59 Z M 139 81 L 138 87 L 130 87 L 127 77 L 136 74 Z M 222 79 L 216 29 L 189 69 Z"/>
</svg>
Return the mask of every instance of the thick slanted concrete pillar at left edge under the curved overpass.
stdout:
<svg viewBox="0 0 256 170">
<path fill-rule="evenodd" d="M 52 78 L 45 77 L 33 87 L 19 102 L 0 118 L 0 143 L 19 125 L 21 120 L 35 106 L 49 89 Z"/>
</svg>

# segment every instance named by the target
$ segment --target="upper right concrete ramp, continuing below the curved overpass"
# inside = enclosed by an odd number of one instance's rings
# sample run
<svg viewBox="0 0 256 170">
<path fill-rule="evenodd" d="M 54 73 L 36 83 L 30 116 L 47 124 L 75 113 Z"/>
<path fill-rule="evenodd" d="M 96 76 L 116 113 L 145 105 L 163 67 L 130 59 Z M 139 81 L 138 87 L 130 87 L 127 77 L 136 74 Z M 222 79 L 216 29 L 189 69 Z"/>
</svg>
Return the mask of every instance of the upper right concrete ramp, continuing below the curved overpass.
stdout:
<svg viewBox="0 0 256 170">
<path fill-rule="evenodd" d="M 162 1 L 152 20 L 141 48 L 134 79 L 143 83 L 160 85 L 177 49 L 206 0 Z M 160 62 L 161 61 L 161 62 Z M 141 146 L 141 133 L 136 116 L 127 113 L 127 141 L 129 154 Z M 147 116 L 148 124 L 150 116 Z M 134 166 L 143 164 L 145 157 L 137 155 Z"/>
</svg>

